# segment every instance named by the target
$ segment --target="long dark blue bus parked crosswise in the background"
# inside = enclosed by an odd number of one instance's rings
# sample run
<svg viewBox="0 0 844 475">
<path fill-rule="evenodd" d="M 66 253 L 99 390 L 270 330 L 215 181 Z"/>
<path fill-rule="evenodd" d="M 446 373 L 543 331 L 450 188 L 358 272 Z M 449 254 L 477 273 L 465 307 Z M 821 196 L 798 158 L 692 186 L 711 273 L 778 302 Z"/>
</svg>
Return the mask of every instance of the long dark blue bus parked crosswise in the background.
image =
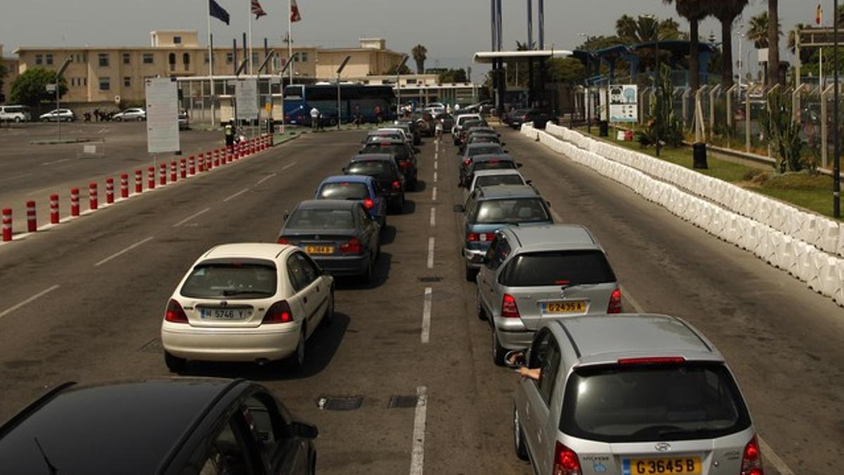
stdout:
<svg viewBox="0 0 844 475">
<path fill-rule="evenodd" d="M 396 98 L 390 85 L 340 84 L 340 120 L 354 121 L 355 106 L 364 123 L 375 123 L 376 107 L 381 108 L 381 119 L 395 116 Z M 288 85 L 284 88 L 284 121 L 311 125 L 311 108 L 322 112 L 325 125 L 335 125 L 338 120 L 337 85 Z"/>
</svg>

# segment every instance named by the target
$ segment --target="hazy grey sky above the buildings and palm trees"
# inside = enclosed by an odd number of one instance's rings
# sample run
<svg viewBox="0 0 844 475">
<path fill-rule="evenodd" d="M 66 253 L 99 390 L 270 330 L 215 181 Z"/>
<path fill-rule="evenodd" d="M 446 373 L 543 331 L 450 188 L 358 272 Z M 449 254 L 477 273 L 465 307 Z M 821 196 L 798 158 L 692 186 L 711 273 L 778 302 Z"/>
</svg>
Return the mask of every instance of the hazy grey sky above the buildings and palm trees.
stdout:
<svg viewBox="0 0 844 475">
<path fill-rule="evenodd" d="M 249 0 L 217 0 L 231 15 L 231 25 L 212 19 L 214 42 L 230 45 L 246 31 Z M 252 22 L 253 41 L 279 44 L 287 30 L 287 0 L 260 0 L 268 16 Z M 8 56 L 16 46 L 144 46 L 149 31 L 187 29 L 206 34 L 206 0 L 2 0 L 0 44 Z M 315 46 L 355 46 L 360 37 L 380 36 L 387 46 L 408 52 L 421 43 L 428 49 L 427 66 L 467 66 L 473 52 L 490 48 L 489 0 L 299 0 L 302 21 L 294 25 L 295 43 Z M 503 0 L 504 40 L 527 41 L 526 0 Z M 827 12 L 832 0 L 824 0 Z M 751 0 L 744 18 L 765 9 L 765 0 Z M 534 0 L 534 14 L 536 1 Z M 814 21 L 815 0 L 780 0 L 783 30 Z M 622 14 L 672 16 L 662 0 L 545 0 L 545 44 L 571 49 L 582 42 L 577 33 L 611 34 Z M 827 15 L 831 18 L 830 15 Z M 534 24 L 534 35 L 537 26 Z M 701 26 L 701 35 L 720 27 Z M 240 41 L 240 39 L 238 39 Z M 720 39 L 718 40 L 720 41 Z M 738 47 L 738 46 L 737 46 Z M 745 56 L 749 45 L 745 44 Z"/>
</svg>

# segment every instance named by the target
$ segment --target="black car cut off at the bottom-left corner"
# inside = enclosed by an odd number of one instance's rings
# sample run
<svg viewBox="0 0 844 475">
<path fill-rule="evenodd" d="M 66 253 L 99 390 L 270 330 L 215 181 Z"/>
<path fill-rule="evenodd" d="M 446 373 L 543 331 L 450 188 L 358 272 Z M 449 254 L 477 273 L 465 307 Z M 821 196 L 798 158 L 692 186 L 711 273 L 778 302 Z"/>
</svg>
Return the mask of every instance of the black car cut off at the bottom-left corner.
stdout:
<svg viewBox="0 0 844 475">
<path fill-rule="evenodd" d="M 243 379 L 65 383 L 0 427 L 0 473 L 313 474 L 316 437 Z"/>
</svg>

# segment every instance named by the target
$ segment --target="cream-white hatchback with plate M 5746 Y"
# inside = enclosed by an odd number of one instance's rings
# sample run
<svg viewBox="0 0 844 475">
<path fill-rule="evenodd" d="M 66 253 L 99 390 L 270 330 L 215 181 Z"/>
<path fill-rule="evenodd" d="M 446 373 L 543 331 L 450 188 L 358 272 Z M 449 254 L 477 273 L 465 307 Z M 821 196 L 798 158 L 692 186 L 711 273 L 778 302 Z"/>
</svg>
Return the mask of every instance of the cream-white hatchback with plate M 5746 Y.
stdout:
<svg viewBox="0 0 844 475">
<path fill-rule="evenodd" d="M 224 244 L 170 297 L 161 343 L 170 371 L 187 360 L 305 363 L 307 339 L 334 314 L 334 279 L 295 246 Z"/>
</svg>

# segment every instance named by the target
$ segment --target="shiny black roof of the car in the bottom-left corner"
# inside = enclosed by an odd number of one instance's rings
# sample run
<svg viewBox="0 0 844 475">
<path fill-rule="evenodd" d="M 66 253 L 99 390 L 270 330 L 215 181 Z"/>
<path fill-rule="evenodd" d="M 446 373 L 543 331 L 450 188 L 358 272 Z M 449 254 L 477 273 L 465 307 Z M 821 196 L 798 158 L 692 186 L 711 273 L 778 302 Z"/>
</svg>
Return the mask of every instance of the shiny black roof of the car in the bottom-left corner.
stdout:
<svg viewBox="0 0 844 475">
<path fill-rule="evenodd" d="M 3 427 L 0 472 L 48 473 L 47 460 L 57 473 L 159 472 L 188 429 L 245 384 L 185 378 L 59 386 Z"/>
</svg>

